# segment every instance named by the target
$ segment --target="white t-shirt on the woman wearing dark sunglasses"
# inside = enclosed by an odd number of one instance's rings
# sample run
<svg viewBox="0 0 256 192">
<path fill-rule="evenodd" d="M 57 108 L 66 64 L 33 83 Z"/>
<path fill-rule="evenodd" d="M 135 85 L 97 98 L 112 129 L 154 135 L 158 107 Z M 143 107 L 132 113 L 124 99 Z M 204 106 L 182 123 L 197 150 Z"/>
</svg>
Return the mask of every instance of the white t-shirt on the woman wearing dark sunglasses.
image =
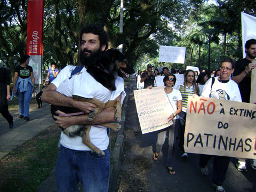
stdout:
<svg viewBox="0 0 256 192">
<path fill-rule="evenodd" d="M 167 102 L 167 107 L 169 108 L 170 115 L 171 115 L 177 110 L 177 101 L 182 100 L 181 93 L 179 90 L 173 89 L 171 93 L 165 94 L 165 98 L 166 98 L 166 102 Z M 171 106 L 169 100 L 172 103 L 172 106 Z M 178 119 L 178 117 L 175 116 L 173 119 Z"/>
</svg>

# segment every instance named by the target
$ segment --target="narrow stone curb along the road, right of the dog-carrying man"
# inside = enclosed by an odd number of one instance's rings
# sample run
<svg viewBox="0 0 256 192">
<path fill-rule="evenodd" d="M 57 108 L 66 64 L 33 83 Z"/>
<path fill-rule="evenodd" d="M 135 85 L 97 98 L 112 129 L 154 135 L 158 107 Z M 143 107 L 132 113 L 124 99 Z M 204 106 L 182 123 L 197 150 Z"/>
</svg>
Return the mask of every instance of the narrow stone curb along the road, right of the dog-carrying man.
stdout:
<svg viewBox="0 0 256 192">
<path fill-rule="evenodd" d="M 118 173 L 119 173 L 119 167 L 121 164 L 121 155 L 123 153 L 124 148 L 124 122 L 125 122 L 125 115 L 126 115 L 126 106 L 129 99 L 129 94 L 131 92 L 131 85 L 129 84 L 129 87 L 127 87 L 127 90 L 125 91 L 126 97 L 123 102 L 122 106 L 122 118 L 121 122 L 121 129 L 117 133 L 116 143 L 115 147 L 112 151 L 112 158 L 114 161 L 113 165 L 110 165 L 110 181 L 109 181 L 109 192 L 115 192 L 116 191 L 116 183 L 118 179 Z"/>
</svg>

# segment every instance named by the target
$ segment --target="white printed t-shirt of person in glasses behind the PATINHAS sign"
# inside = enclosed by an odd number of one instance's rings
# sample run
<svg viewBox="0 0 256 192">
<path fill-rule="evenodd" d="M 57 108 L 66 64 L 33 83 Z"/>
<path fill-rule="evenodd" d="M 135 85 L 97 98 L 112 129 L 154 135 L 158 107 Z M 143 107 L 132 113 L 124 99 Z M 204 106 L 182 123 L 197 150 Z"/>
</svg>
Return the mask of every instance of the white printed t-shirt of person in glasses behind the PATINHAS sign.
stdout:
<svg viewBox="0 0 256 192">
<path fill-rule="evenodd" d="M 214 79 L 213 85 L 212 78 L 205 83 L 201 94 L 202 97 L 209 98 L 211 94 L 211 98 L 242 102 L 239 87 L 236 82 L 229 79 L 227 83 L 221 83 L 219 82 L 218 77 L 214 77 Z"/>
</svg>

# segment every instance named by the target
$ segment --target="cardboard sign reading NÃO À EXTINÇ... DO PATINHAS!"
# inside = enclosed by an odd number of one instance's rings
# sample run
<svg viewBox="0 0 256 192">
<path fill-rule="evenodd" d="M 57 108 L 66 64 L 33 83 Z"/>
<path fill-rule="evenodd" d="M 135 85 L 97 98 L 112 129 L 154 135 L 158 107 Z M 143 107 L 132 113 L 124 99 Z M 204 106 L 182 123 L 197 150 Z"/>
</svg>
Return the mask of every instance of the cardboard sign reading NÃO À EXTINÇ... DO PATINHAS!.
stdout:
<svg viewBox="0 0 256 192">
<path fill-rule="evenodd" d="M 256 159 L 256 105 L 188 97 L 187 153 Z"/>
</svg>

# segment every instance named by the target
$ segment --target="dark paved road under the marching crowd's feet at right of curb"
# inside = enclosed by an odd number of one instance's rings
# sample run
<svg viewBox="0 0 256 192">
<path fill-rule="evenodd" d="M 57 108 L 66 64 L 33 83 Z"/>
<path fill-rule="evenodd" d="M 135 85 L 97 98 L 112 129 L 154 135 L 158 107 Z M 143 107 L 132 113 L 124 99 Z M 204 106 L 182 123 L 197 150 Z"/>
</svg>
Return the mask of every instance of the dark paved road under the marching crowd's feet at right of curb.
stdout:
<svg viewBox="0 0 256 192">
<path fill-rule="evenodd" d="M 133 83 L 132 89 L 135 90 Z M 209 175 L 203 176 L 199 169 L 199 155 L 189 154 L 182 161 L 178 149 L 174 155 L 175 175 L 166 169 L 167 140 L 158 161 L 153 160 L 157 134 L 141 134 L 133 94 L 129 95 L 125 118 L 125 146 L 119 171 L 119 186 L 116 191 L 215 191 L 212 187 L 212 163 L 208 164 Z M 256 191 L 256 171 L 247 166 L 247 172 L 239 172 L 231 158 L 223 187 L 226 191 Z M 250 162 L 249 162 L 250 165 Z"/>
</svg>

